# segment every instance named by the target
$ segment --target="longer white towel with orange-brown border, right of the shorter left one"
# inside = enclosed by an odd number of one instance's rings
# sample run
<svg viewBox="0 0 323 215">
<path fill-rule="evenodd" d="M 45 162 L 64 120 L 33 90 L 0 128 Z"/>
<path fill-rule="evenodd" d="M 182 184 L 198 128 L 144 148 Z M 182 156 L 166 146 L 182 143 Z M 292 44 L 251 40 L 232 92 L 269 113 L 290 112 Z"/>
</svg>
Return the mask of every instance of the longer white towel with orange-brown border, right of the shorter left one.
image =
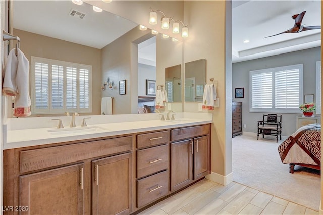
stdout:
<svg viewBox="0 0 323 215">
<path fill-rule="evenodd" d="M 29 61 L 18 49 L 18 67 L 16 74 L 17 95 L 14 102 L 14 116 L 28 117 L 31 115 L 29 96 Z"/>
</svg>

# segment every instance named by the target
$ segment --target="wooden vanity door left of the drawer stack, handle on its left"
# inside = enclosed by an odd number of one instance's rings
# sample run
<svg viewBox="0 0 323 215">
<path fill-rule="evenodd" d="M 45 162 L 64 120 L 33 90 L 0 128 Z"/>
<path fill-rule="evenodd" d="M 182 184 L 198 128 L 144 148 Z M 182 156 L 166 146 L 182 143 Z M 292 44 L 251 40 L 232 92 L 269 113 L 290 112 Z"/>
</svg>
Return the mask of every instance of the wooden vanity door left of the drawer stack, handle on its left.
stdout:
<svg viewBox="0 0 323 215">
<path fill-rule="evenodd" d="M 92 214 L 132 211 L 132 153 L 92 162 Z"/>
</svg>

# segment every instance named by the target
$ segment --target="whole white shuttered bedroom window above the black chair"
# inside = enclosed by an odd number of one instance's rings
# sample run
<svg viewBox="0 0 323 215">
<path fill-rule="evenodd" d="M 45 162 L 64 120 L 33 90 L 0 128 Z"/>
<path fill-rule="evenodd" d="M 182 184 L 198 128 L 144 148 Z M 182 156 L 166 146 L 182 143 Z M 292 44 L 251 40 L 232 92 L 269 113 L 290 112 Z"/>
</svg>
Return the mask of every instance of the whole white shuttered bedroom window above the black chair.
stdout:
<svg viewBox="0 0 323 215">
<path fill-rule="evenodd" d="M 303 64 L 250 71 L 250 112 L 300 113 Z"/>
</svg>

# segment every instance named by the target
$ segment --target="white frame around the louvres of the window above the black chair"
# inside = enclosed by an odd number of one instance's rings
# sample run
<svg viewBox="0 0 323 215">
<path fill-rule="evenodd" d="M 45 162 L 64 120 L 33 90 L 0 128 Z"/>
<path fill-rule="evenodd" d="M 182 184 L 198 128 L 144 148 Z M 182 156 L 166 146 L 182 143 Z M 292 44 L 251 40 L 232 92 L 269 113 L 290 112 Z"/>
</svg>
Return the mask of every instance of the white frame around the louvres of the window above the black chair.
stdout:
<svg viewBox="0 0 323 215">
<path fill-rule="evenodd" d="M 300 110 L 297 108 L 294 109 L 285 109 L 285 108 L 275 108 L 275 72 L 279 72 L 282 70 L 290 70 L 290 69 L 299 69 L 299 104 L 303 103 L 303 64 L 295 64 L 295 65 L 288 65 L 288 66 L 281 66 L 281 67 L 273 67 L 273 68 L 266 68 L 260 70 L 252 70 L 249 71 L 249 112 L 259 112 L 259 113 L 301 113 Z M 255 73 L 272 73 L 272 106 L 273 108 L 252 108 L 252 74 Z"/>
</svg>

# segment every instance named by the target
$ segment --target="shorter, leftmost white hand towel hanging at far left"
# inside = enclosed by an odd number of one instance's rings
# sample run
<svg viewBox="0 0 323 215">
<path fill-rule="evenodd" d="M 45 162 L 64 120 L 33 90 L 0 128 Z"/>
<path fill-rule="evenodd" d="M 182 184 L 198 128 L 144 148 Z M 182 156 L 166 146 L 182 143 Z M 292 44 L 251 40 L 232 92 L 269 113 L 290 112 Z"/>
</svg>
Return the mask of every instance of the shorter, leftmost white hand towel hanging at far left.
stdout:
<svg viewBox="0 0 323 215">
<path fill-rule="evenodd" d="M 17 88 L 16 88 L 16 74 L 18 67 L 18 58 L 15 55 L 15 49 L 12 49 L 9 52 L 6 67 L 4 70 L 4 83 L 2 86 L 2 91 L 5 95 L 8 96 L 16 96 Z"/>
</svg>

